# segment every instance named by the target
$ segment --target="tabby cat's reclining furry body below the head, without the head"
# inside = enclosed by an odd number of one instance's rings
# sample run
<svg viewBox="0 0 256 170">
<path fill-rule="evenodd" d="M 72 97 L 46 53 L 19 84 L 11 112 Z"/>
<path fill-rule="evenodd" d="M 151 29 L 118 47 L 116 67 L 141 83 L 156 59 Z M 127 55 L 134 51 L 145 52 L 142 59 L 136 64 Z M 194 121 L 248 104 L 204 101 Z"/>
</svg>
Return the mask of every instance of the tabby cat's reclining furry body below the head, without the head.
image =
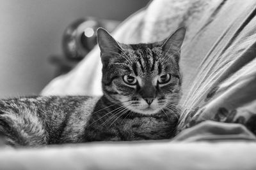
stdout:
<svg viewBox="0 0 256 170">
<path fill-rule="evenodd" d="M 173 136 L 177 124 L 175 114 L 166 111 L 168 115 L 130 113 L 117 117 L 119 106 L 111 106 L 113 104 L 108 102 L 104 97 L 86 96 L 3 100 L 0 103 L 0 131 L 6 134 L 8 144 L 13 146 L 166 139 Z"/>
</svg>

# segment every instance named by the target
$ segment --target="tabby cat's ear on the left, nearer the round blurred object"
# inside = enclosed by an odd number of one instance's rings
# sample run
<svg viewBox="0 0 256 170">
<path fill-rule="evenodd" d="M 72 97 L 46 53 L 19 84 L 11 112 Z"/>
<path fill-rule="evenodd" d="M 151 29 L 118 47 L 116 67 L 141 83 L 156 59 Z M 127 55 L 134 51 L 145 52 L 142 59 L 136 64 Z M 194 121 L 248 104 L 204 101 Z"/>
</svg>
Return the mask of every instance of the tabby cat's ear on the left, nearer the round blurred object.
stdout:
<svg viewBox="0 0 256 170">
<path fill-rule="evenodd" d="M 118 42 L 105 29 L 97 29 L 97 41 L 101 53 L 118 53 L 121 49 Z"/>
</svg>

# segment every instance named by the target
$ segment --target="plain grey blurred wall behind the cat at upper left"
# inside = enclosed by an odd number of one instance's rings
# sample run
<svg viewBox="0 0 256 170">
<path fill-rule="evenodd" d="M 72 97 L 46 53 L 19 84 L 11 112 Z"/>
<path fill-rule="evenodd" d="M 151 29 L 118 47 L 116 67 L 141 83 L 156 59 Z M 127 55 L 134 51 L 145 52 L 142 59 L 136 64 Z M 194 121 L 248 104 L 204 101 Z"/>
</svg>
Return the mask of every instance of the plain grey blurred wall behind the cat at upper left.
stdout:
<svg viewBox="0 0 256 170">
<path fill-rule="evenodd" d="M 0 5 L 0 97 L 36 95 L 54 78 L 49 55 L 61 53 L 77 18 L 122 21 L 149 0 L 11 0 Z"/>
</svg>

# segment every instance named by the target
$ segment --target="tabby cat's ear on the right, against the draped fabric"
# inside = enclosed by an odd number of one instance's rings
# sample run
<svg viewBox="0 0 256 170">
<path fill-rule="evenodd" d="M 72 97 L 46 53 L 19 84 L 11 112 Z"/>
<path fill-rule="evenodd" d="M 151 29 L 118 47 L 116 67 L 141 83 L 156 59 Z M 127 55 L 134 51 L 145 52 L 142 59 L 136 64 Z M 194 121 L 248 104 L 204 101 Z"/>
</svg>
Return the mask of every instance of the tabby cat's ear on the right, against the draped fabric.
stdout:
<svg viewBox="0 0 256 170">
<path fill-rule="evenodd" d="M 179 52 L 180 47 L 185 38 L 185 34 L 186 34 L 185 27 L 181 27 L 181 28 L 177 29 L 177 31 L 175 31 L 171 36 L 164 39 L 163 51 L 165 53 Z"/>
</svg>

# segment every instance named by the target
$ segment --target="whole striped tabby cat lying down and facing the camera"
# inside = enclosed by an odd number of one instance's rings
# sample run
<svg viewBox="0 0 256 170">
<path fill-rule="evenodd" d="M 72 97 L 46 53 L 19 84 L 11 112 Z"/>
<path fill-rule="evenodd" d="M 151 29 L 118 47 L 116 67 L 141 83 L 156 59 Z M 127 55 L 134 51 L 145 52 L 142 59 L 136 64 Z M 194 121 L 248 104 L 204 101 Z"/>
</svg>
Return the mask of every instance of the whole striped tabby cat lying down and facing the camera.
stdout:
<svg viewBox="0 0 256 170">
<path fill-rule="evenodd" d="M 163 41 L 127 45 L 99 28 L 104 95 L 2 99 L 0 134 L 10 146 L 172 138 L 185 33 L 180 28 Z"/>
</svg>

